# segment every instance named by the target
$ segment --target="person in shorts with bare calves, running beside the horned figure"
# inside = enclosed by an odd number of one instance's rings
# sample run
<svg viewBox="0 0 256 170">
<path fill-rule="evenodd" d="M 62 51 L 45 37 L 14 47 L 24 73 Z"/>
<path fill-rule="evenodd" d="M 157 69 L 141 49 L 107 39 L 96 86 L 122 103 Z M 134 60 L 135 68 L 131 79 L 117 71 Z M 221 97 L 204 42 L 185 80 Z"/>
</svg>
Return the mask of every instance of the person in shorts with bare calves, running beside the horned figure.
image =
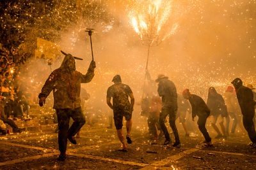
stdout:
<svg viewBox="0 0 256 170">
<path fill-rule="evenodd" d="M 107 104 L 114 112 L 114 121 L 117 136 L 122 143 L 122 149 L 120 151 L 127 152 L 127 145 L 125 143 L 124 135 L 122 132 L 123 117 L 126 120 L 126 139 L 127 143 L 131 144 L 131 127 L 132 127 L 132 111 L 134 106 L 134 96 L 131 88 L 128 85 L 122 83 L 120 75 L 114 76 L 114 85 L 108 88 L 107 91 Z M 131 98 L 131 103 L 129 101 Z M 113 98 L 113 104 L 111 104 L 111 98 Z"/>
</svg>

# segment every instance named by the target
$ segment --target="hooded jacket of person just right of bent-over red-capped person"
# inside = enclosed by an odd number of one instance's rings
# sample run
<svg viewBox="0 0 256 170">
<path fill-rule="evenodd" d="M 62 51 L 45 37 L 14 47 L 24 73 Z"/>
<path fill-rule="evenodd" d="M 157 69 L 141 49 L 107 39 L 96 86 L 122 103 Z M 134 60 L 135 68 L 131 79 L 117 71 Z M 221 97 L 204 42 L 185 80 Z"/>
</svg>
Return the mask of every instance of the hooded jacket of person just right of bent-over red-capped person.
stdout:
<svg viewBox="0 0 256 170">
<path fill-rule="evenodd" d="M 227 117 L 227 106 L 223 97 L 217 93 L 214 87 L 210 87 L 214 92 L 214 96 L 208 92 L 207 106 L 211 110 L 212 115 L 222 115 L 222 117 Z"/>
</svg>

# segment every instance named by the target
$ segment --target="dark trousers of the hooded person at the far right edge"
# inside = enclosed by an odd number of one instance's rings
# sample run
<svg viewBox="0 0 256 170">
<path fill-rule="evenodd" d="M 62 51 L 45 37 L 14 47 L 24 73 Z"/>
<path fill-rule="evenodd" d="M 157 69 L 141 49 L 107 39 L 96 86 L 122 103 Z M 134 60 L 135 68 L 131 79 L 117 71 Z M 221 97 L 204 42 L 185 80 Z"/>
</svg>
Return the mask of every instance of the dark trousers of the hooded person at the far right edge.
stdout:
<svg viewBox="0 0 256 170">
<path fill-rule="evenodd" d="M 252 115 L 243 115 L 243 125 L 244 129 L 248 132 L 248 136 L 253 143 L 256 143 L 256 132 L 253 124 L 253 117 Z"/>
</svg>

